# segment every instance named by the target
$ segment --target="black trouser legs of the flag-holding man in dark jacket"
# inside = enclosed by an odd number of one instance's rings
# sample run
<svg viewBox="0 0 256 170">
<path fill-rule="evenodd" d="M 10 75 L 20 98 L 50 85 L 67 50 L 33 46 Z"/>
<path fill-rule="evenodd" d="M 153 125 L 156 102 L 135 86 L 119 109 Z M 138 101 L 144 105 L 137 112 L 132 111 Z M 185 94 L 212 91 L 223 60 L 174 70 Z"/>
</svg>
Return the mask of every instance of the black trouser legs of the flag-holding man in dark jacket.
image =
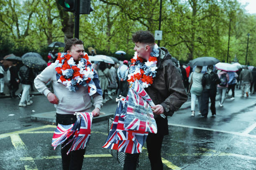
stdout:
<svg viewBox="0 0 256 170">
<path fill-rule="evenodd" d="M 150 160 L 151 170 L 163 170 L 163 163 L 161 159 L 161 147 L 163 143 L 164 135 L 158 135 L 154 133 L 148 133 L 146 140 L 148 158 Z M 136 170 L 137 154 L 126 154 L 123 170 Z"/>
</svg>

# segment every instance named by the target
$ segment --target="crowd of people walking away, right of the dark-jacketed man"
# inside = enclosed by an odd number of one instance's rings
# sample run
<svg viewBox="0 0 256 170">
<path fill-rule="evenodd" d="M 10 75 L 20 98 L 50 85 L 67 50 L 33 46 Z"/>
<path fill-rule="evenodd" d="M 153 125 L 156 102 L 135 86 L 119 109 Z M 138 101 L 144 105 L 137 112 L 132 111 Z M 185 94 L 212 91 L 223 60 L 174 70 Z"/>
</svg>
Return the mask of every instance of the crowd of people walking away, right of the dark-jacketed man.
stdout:
<svg viewBox="0 0 256 170">
<path fill-rule="evenodd" d="M 209 98 L 212 116 L 216 115 L 215 101 L 217 93 L 219 106 L 223 107 L 230 89 L 232 91 L 230 100 L 235 100 L 236 87 L 241 89 L 241 97 L 245 95 L 248 97 L 249 94 L 254 94 L 255 92 L 256 67 L 248 70 L 248 66 L 244 66 L 233 72 L 218 70 L 213 65 L 208 65 L 207 71 L 204 73 L 202 68 L 202 66 L 196 66 L 192 71 L 192 68 L 185 69 L 182 66 L 180 69 L 184 87 L 187 88 L 187 92 L 191 96 L 191 116 L 195 116 L 196 100 L 198 101 L 198 115 L 207 117 Z"/>
</svg>

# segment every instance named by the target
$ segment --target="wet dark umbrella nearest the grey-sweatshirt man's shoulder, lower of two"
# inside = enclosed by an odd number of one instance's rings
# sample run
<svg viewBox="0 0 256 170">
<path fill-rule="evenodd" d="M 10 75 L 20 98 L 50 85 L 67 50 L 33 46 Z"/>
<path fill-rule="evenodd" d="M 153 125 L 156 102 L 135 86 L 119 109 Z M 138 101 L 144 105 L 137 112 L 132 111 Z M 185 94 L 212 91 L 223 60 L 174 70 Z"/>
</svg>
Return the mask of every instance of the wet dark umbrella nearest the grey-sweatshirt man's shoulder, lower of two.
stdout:
<svg viewBox="0 0 256 170">
<path fill-rule="evenodd" d="M 24 65 L 30 67 L 30 68 L 36 68 L 38 70 L 44 70 L 45 67 L 47 67 L 47 63 L 38 57 L 26 57 L 22 60 Z"/>
</svg>

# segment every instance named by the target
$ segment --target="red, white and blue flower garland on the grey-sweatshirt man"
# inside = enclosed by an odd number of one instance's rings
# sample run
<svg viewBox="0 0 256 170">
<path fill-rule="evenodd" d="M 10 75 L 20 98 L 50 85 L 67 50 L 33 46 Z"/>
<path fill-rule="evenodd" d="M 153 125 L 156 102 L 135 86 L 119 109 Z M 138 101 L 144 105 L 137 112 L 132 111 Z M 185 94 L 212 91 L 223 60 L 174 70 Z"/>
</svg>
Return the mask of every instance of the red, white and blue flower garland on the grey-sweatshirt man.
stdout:
<svg viewBox="0 0 256 170">
<path fill-rule="evenodd" d="M 57 82 L 62 83 L 69 91 L 75 92 L 79 87 L 88 85 L 89 95 L 95 94 L 97 88 L 92 81 L 94 72 L 87 53 L 84 52 L 78 64 L 70 54 L 58 53 L 55 70 Z"/>
</svg>

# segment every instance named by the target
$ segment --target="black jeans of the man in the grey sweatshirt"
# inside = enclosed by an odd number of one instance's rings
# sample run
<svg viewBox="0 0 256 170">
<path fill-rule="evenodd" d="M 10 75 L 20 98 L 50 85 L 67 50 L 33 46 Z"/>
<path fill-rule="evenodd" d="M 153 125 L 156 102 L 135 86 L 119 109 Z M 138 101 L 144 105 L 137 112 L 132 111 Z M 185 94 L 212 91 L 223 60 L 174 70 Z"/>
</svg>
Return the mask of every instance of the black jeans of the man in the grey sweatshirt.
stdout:
<svg viewBox="0 0 256 170">
<path fill-rule="evenodd" d="M 76 122 L 77 117 L 75 115 L 61 115 L 56 113 L 56 125 L 71 125 Z M 67 146 L 66 142 L 61 144 L 61 159 L 62 159 L 62 168 L 63 170 L 81 170 L 85 149 L 71 151 L 68 155 L 67 152 L 71 148 L 72 143 L 69 143 Z"/>
</svg>

